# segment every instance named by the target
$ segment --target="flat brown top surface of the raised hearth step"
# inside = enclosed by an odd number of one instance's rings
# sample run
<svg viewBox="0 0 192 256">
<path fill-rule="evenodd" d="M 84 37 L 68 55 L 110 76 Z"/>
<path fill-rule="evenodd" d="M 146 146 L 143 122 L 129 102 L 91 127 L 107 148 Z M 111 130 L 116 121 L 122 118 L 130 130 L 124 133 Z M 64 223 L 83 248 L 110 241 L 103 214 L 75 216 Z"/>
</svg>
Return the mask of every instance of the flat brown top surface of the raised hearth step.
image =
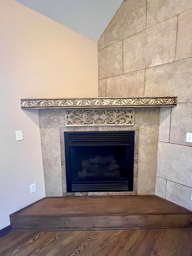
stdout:
<svg viewBox="0 0 192 256">
<path fill-rule="evenodd" d="M 186 214 L 189 210 L 154 195 L 46 197 L 18 215 Z"/>
</svg>

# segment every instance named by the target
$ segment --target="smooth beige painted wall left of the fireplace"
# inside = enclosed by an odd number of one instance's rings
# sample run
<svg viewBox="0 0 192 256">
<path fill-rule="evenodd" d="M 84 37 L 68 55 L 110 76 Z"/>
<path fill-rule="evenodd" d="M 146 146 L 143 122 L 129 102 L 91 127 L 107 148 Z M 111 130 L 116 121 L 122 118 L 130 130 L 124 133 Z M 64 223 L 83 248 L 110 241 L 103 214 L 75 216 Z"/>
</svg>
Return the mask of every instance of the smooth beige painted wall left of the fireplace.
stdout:
<svg viewBox="0 0 192 256">
<path fill-rule="evenodd" d="M 45 196 L 38 111 L 21 110 L 20 98 L 97 97 L 97 79 L 95 41 L 0 0 L 0 229 L 10 213 Z"/>
</svg>

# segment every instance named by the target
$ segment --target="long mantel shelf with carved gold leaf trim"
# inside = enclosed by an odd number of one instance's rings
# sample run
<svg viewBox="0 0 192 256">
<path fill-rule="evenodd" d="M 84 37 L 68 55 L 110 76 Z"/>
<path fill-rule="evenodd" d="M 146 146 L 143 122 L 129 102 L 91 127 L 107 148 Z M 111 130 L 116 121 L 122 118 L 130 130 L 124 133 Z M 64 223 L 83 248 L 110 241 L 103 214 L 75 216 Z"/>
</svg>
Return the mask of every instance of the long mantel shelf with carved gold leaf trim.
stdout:
<svg viewBox="0 0 192 256">
<path fill-rule="evenodd" d="M 177 97 L 21 99 L 21 108 L 176 106 Z"/>
</svg>

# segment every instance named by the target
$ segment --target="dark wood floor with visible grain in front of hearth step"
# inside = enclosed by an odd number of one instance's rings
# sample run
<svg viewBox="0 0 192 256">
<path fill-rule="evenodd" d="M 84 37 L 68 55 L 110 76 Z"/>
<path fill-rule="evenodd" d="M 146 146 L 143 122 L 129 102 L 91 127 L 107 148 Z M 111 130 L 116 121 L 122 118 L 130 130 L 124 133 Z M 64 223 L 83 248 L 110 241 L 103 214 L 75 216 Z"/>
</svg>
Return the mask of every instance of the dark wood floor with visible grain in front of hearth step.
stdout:
<svg viewBox="0 0 192 256">
<path fill-rule="evenodd" d="M 111 231 L 11 231 L 1 256 L 191 256 L 192 228 Z"/>
</svg>

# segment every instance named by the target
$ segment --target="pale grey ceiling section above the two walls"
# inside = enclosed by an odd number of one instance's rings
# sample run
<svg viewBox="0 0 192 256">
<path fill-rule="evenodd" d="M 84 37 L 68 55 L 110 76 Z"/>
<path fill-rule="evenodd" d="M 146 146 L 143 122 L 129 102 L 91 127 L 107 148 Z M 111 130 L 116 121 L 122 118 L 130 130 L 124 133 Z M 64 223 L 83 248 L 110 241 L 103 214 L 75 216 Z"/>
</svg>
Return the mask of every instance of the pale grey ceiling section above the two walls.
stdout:
<svg viewBox="0 0 192 256">
<path fill-rule="evenodd" d="M 123 0 L 16 0 L 98 41 Z"/>
</svg>

